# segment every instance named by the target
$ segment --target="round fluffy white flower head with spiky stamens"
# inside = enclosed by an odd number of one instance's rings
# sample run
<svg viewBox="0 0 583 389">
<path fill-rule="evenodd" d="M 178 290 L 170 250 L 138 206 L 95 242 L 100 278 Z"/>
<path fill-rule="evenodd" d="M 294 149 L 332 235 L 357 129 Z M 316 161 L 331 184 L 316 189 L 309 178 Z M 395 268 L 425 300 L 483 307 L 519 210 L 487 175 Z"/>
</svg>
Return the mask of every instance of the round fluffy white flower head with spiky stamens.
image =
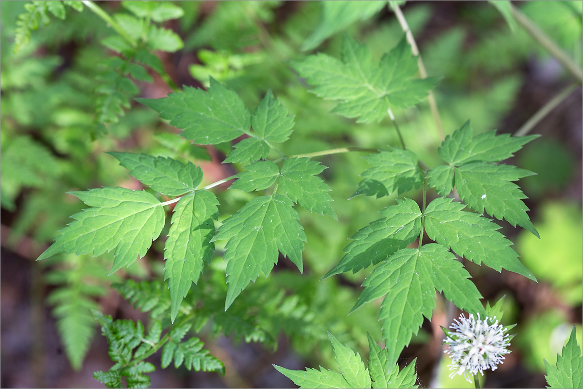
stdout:
<svg viewBox="0 0 583 389">
<path fill-rule="evenodd" d="M 484 370 L 496 370 L 498 363 L 504 363 L 503 355 L 510 353 L 507 349 L 510 345 L 506 333 L 508 329 L 494 320 L 496 317 L 480 320 L 480 314 L 477 318 L 473 314 L 469 318 L 461 314 L 459 320 L 455 319 L 455 323 L 449 326 L 455 330 L 447 331 L 448 337 L 444 341 L 449 346 L 444 352 L 451 356 L 453 362 L 448 365 L 449 370 L 453 370 L 449 378 L 463 374 L 471 383 L 470 377 L 474 374 L 480 372 L 483 376 Z"/>
</svg>

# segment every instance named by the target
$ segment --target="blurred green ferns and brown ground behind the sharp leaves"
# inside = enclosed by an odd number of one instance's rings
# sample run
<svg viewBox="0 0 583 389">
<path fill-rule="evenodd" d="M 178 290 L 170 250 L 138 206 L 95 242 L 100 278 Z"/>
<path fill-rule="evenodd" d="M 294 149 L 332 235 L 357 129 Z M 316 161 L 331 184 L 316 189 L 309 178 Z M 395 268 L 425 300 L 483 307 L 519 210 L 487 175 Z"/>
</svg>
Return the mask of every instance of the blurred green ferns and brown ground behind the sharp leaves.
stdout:
<svg viewBox="0 0 583 389">
<path fill-rule="evenodd" d="M 36 263 L 25 259 L 38 257 L 55 232 L 70 221 L 69 215 L 82 209 L 65 192 L 101 186 L 143 189 L 106 151 L 190 161 L 202 167 L 202 185 L 238 173 L 230 164 L 220 163 L 232 138 L 216 139 L 224 143 L 215 146 L 194 145 L 176 136 L 174 127 L 134 97 L 164 97 L 175 85 L 212 89 L 214 79 L 237 92 L 246 107 L 259 106 L 272 91 L 296 123 L 289 141 L 280 146 L 287 155 L 400 144 L 387 118 L 361 117 L 349 107 L 338 108 L 337 102 L 315 96 L 309 92 L 310 75 L 294 66 L 306 77 L 300 78 L 289 66 L 304 61 L 315 48 L 330 58 L 341 58 L 346 34 L 366 45 L 371 59 L 378 62 L 382 54 L 404 42 L 399 23 L 383 2 L 357 9 L 350 8 L 356 3 L 333 8 L 319 2 L 157 2 L 154 8 L 142 2 L 100 3 L 123 27 L 121 34 L 90 9 L 70 3 L 62 7 L 43 2 L 1 3 L 3 386 L 94 386 L 92 379 L 78 380 L 91 377 L 94 370 L 107 371 L 111 362 L 107 345 L 96 336 L 99 328 L 90 313 L 93 309 L 134 322 L 146 323 L 150 317 L 160 320 L 164 328 L 170 325 L 170 313 L 178 314 L 165 285 L 144 282 L 164 278 L 163 242 L 154 242 L 145 258 L 111 276 L 106 271 L 113 263 L 109 254 L 96 258 L 61 255 Z M 580 1 L 529 1 L 519 7 L 581 66 Z M 487 3 L 415 2 L 404 5 L 403 13 L 419 43 L 427 73 L 442 77 L 434 94 L 445 135 L 468 118 L 476 135 L 494 128 L 498 133 L 513 133 L 570 82 L 560 65 L 524 30 L 516 26 L 511 30 Z M 22 14 L 29 16 L 19 17 Z M 315 92 L 326 97 L 325 90 Z M 408 149 L 427 166 L 440 164 L 440 134 L 427 103 L 394 113 Z M 522 262 L 539 283 L 465 264 L 486 299 L 507 296 L 505 324 L 518 323 L 513 352 L 489 378 L 492 386 L 511 386 L 517 381 L 542 386 L 542 359 L 554 365 L 553 356 L 566 344 L 571 324 L 581 318 L 580 87 L 532 132 L 543 136 L 507 163 L 538 173 L 520 184 L 542 239 L 505 222 L 501 231 L 514 241 Z M 191 131 L 191 135 L 196 133 Z M 268 141 L 281 142 L 282 136 Z M 239 159 L 244 158 L 241 155 Z M 232 153 L 229 158 L 234 159 Z M 184 298 L 188 304 L 198 304 L 192 329 L 210 354 L 222 360 L 226 375 L 222 379 L 216 373 L 190 376 L 184 367 L 178 376 L 161 375 L 172 372 L 170 368 L 152 374 L 153 386 L 288 386 L 291 382 L 270 363 L 290 369 L 334 367 L 330 341 L 335 351 L 348 344 L 360 355 L 368 355 L 373 348 L 366 331 L 380 341 L 380 301 L 347 316 L 370 269 L 320 278 L 338 264 L 347 239 L 376 219 L 376 211 L 395 204 L 397 193 L 378 200 L 359 196 L 349 201 L 370 161 L 361 159 L 360 153 L 330 155 L 319 161 L 329 167 L 321 177 L 332 190 L 333 202 L 332 208 L 314 209 L 315 213 L 298 208 L 307 238 L 304 274 L 280 260 L 268 279 L 259 277 L 224 311 L 227 264 L 221 256 L 229 249 L 224 247 L 226 241 L 217 241 L 214 254 L 207 258 L 210 267 L 199 279 L 200 288 L 192 288 Z M 226 187 L 215 188 L 222 205 L 220 221 L 254 198 L 244 191 L 227 192 Z M 422 193 L 411 191 L 408 197 L 419 203 Z M 317 213 L 336 216 L 339 222 Z M 171 226 L 167 222 L 160 228 L 166 236 Z M 134 281 L 120 283 L 127 278 Z M 117 292 L 109 288 L 112 283 Z M 147 314 L 131 309 L 118 296 Z M 424 321 L 401 360 L 403 366 L 410 365 L 418 357 L 417 384 L 422 387 L 429 386 L 440 352 L 436 341 L 440 330 L 434 322 L 445 317 L 442 300 L 437 300 L 436 309 L 434 321 Z M 13 324 L 5 324 L 8 317 L 15 318 Z M 100 320 L 108 323 L 107 316 Z M 134 333 L 136 327 L 130 327 L 123 331 Z M 113 340 L 123 332 L 112 331 L 108 338 Z M 326 331 L 338 341 L 329 339 Z M 581 337 L 580 325 L 577 331 Z M 22 342 L 8 341 L 20 339 L 18 334 Z M 152 328 L 146 334 L 151 335 Z M 156 357 L 163 366 L 172 357 L 174 364 L 177 358 L 175 350 L 167 351 L 170 344 Z M 194 349 L 196 345 L 196 340 L 189 344 Z M 69 363 L 81 369 L 79 373 L 73 373 Z M 249 373 L 245 363 L 259 367 Z M 146 370 L 151 370 L 149 365 L 143 366 Z M 373 377 L 373 368 L 369 370 Z M 30 374 L 16 375 L 15 371 Z M 129 377 L 141 375 L 134 373 L 128 373 Z M 59 375 L 66 379 L 58 381 Z M 447 379 L 441 383 L 459 384 Z"/>
</svg>

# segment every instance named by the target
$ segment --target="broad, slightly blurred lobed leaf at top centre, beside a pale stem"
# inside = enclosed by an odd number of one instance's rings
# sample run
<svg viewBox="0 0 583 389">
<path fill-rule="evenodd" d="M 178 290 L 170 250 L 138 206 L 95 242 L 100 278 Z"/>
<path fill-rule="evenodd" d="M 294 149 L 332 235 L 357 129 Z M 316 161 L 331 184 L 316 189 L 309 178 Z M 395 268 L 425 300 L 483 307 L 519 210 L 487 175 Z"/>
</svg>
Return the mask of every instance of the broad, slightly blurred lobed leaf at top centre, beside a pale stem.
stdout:
<svg viewBox="0 0 583 389">
<path fill-rule="evenodd" d="M 326 54 L 310 55 L 292 66 L 314 85 L 312 92 L 327 100 L 340 100 L 333 112 L 357 122 L 381 121 L 392 108 L 413 106 L 427 96 L 436 78 L 413 79 L 417 59 L 405 37 L 373 62 L 370 51 L 349 37 L 342 44 L 342 61 Z"/>
</svg>

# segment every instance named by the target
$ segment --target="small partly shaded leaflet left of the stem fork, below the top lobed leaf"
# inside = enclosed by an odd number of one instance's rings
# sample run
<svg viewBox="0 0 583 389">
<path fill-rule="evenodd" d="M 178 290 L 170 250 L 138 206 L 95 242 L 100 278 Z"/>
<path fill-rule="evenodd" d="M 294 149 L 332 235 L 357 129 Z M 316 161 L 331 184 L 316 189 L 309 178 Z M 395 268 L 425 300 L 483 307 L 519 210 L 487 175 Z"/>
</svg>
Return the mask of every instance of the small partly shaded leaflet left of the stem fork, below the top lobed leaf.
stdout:
<svg viewBox="0 0 583 389">
<path fill-rule="evenodd" d="M 382 150 L 378 154 L 363 157 L 371 167 L 360 174 L 365 177 L 361 181 L 356 192 L 350 197 L 359 194 L 376 194 L 377 198 L 384 193 L 391 194 L 395 190 L 398 195 L 419 188 L 423 184 L 423 175 L 419 170 L 419 161 L 415 153 L 409 150 L 398 149 L 389 146 L 389 150 Z M 371 183 L 381 183 L 386 191 L 371 193 Z"/>
</svg>

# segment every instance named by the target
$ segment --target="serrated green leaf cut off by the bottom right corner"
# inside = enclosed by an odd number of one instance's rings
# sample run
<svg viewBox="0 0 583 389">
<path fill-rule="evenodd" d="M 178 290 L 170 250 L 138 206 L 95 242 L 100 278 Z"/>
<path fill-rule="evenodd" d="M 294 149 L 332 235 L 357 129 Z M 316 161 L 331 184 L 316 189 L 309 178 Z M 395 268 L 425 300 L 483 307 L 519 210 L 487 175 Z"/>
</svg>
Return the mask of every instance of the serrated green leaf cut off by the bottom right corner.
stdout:
<svg viewBox="0 0 583 389">
<path fill-rule="evenodd" d="M 545 360 L 545 378 L 547 388 L 581 388 L 583 386 L 583 358 L 581 347 L 577 344 L 575 326 L 561 355 L 557 354 L 557 366 L 550 365 Z"/>
</svg>

